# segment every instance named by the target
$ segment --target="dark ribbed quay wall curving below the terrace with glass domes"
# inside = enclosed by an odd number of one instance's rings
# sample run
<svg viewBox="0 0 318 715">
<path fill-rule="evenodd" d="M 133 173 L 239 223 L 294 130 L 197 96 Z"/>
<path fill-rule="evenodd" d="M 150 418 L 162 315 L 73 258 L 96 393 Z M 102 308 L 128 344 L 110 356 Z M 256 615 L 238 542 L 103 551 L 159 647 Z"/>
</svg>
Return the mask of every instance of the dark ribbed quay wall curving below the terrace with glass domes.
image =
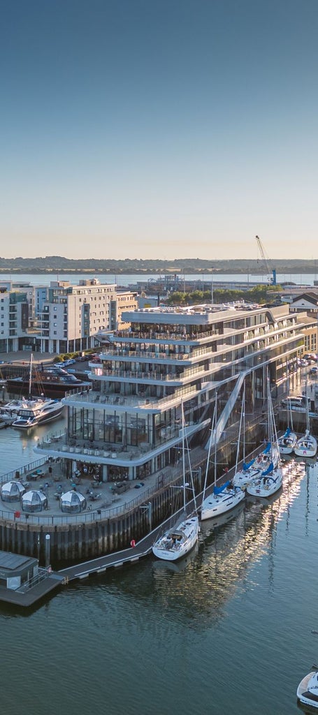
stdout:
<svg viewBox="0 0 318 715">
<path fill-rule="evenodd" d="M 266 427 L 265 427 L 266 430 Z M 246 452 L 253 451 L 264 438 L 264 422 L 255 422 L 246 428 Z M 227 438 L 218 445 L 216 460 L 211 450 L 208 465 L 208 485 L 214 482 L 214 464 L 218 483 L 226 480 L 226 472 L 236 463 L 237 434 L 229 430 Z M 208 450 L 201 450 L 201 458 L 193 468 L 193 482 L 198 494 L 197 506 L 201 506 L 203 483 L 206 476 Z M 243 447 L 239 455 L 243 457 Z M 187 475 L 189 480 L 190 475 Z M 211 486 L 212 488 L 212 486 Z M 19 521 L 12 514 L 11 518 L 0 518 L 0 549 L 14 553 L 35 556 L 40 563 L 45 562 L 45 537 L 50 536 L 51 563 L 54 568 L 60 563 L 72 563 L 120 551 L 130 546 L 133 539 L 140 538 L 158 526 L 169 516 L 178 511 L 183 504 L 183 490 L 172 488 L 168 483 L 158 487 L 147 501 L 117 516 L 104 516 L 102 510 L 96 511 L 90 520 L 77 515 L 76 523 L 28 523 Z M 150 505 L 150 506 L 149 506 Z M 143 508 L 140 508 L 142 506 Z M 127 505 L 128 507 L 128 505 Z M 148 508 L 147 508 L 148 507 Z M 193 502 L 189 503 L 193 508 Z"/>
</svg>

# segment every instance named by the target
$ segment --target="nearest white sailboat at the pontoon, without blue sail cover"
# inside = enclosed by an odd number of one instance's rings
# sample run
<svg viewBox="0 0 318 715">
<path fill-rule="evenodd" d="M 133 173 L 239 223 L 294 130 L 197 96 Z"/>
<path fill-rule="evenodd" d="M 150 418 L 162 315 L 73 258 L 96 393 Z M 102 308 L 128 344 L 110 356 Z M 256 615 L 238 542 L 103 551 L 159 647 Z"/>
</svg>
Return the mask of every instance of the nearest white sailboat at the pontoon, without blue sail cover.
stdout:
<svg viewBox="0 0 318 715">
<path fill-rule="evenodd" d="M 186 556 L 193 546 L 198 542 L 198 514 L 193 513 L 191 516 L 186 516 L 186 437 L 185 437 L 185 419 L 182 406 L 182 445 L 183 445 L 183 516 L 180 518 L 173 528 L 165 531 L 161 536 L 158 536 L 153 544 L 153 554 L 163 561 L 178 561 L 178 559 Z M 190 473 L 191 463 L 189 460 Z M 193 480 L 191 473 L 191 482 L 193 488 Z M 194 490 L 193 490 L 194 495 Z"/>
</svg>

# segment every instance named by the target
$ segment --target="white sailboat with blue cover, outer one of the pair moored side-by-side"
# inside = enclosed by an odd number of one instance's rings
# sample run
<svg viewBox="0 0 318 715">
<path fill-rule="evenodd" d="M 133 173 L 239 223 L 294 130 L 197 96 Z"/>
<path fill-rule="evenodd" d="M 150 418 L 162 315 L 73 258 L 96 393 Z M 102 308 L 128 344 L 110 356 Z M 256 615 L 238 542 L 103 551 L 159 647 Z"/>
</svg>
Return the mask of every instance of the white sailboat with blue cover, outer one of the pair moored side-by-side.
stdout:
<svg viewBox="0 0 318 715">
<path fill-rule="evenodd" d="M 251 496 L 265 497 L 268 498 L 272 494 L 276 493 L 281 488 L 283 481 L 283 470 L 281 468 L 281 461 L 279 457 L 278 439 L 276 433 L 276 425 L 274 419 L 274 408 L 271 400 L 271 390 L 269 387 L 269 380 L 267 381 L 267 405 L 268 405 L 268 418 L 269 418 L 269 443 L 266 446 L 264 452 L 261 453 L 260 458 L 258 457 L 256 463 L 259 465 L 260 471 L 259 475 L 247 485 L 246 491 Z M 266 455 L 266 462 L 264 460 L 264 455 Z M 269 458 L 271 460 L 269 461 Z"/>
</svg>

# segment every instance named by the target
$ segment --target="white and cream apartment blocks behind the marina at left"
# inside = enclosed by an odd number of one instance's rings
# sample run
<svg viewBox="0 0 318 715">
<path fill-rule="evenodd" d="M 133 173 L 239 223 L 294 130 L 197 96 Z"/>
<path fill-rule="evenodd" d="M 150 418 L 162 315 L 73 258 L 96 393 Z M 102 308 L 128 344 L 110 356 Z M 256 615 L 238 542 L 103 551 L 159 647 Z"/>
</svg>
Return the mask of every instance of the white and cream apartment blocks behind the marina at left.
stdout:
<svg viewBox="0 0 318 715">
<path fill-rule="evenodd" d="M 98 332 L 127 330 L 122 312 L 136 307 L 135 293 L 97 279 L 47 287 L 0 282 L 0 352 L 87 350 Z"/>
</svg>

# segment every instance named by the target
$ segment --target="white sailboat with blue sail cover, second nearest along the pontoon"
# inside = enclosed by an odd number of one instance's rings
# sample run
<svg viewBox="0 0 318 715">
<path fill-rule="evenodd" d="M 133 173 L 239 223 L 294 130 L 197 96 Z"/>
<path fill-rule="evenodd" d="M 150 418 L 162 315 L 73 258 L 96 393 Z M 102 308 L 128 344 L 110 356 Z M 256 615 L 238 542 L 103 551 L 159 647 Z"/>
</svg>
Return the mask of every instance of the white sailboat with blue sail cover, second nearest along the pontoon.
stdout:
<svg viewBox="0 0 318 715">
<path fill-rule="evenodd" d="M 216 393 L 216 404 L 217 404 L 217 393 Z M 202 506 L 201 506 L 201 520 L 202 521 L 204 521 L 205 519 L 211 519 L 215 516 L 220 516 L 220 514 L 223 514 L 226 511 L 230 511 L 230 509 L 233 509 L 235 506 L 237 506 L 237 504 L 239 504 L 244 499 L 244 496 L 245 496 L 244 490 L 242 490 L 240 486 L 233 485 L 233 483 L 231 483 L 231 481 L 227 481 L 225 484 L 222 484 L 220 487 L 216 486 L 216 456 L 217 456 L 216 423 L 217 423 L 217 420 L 216 420 L 216 406 L 215 406 L 214 413 L 213 413 L 211 438 L 210 438 L 210 443 L 209 443 L 209 447 L 208 447 L 208 459 L 206 462 L 206 478 L 204 481 L 204 488 L 203 488 L 203 498 L 202 498 Z M 211 445 L 212 445 L 212 440 L 213 440 L 213 424 L 214 424 L 214 488 L 213 488 L 213 493 L 211 495 L 205 497 L 206 483 L 207 483 L 207 479 L 208 479 L 208 465 L 210 463 Z"/>
</svg>

